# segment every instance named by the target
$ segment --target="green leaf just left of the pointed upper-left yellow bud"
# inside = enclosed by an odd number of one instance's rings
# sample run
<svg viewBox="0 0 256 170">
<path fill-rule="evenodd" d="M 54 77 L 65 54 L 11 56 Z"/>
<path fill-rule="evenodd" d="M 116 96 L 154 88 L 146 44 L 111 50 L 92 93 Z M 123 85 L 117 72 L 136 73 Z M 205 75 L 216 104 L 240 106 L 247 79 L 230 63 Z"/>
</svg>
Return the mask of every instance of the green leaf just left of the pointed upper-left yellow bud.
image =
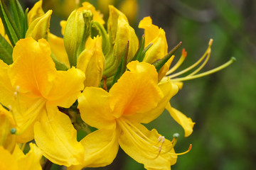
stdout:
<svg viewBox="0 0 256 170">
<path fill-rule="evenodd" d="M 18 30 L 20 30 L 21 38 L 25 38 L 26 30 L 24 29 L 26 25 L 26 18 L 23 12 L 23 8 L 21 7 L 21 4 L 19 4 L 18 0 L 10 0 L 10 5 L 14 23 Z"/>
</svg>

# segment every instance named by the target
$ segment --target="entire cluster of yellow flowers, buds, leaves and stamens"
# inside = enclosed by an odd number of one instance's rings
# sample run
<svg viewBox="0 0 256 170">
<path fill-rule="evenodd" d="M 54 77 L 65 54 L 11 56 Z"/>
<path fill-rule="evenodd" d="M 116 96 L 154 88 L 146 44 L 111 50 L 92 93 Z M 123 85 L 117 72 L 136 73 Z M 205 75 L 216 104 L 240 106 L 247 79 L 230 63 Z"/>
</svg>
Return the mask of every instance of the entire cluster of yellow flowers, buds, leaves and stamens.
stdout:
<svg viewBox="0 0 256 170">
<path fill-rule="evenodd" d="M 210 57 L 212 40 L 198 62 L 172 74 L 186 51 L 169 69 L 181 42 L 168 52 L 164 30 L 150 17 L 139 23 L 144 29 L 139 41 L 117 8 L 109 6 L 106 24 L 94 6 L 84 2 L 61 21 L 59 38 L 49 32 L 52 11 L 44 13 L 42 1 L 25 12 L 17 0 L 10 5 L 12 15 L 0 1 L 0 169 L 41 169 L 42 155 L 68 169 L 107 166 L 119 146 L 145 169 L 171 169 L 178 155 L 190 151 L 191 146 L 177 154 L 178 135 L 166 140 L 142 123 L 150 123 L 166 108 L 185 136 L 191 135 L 191 118 L 169 101 L 182 81 L 233 62 L 197 74 Z M 176 78 L 198 64 L 191 74 Z M 97 130 L 88 132 L 90 127 Z M 79 130 L 87 132 L 80 141 Z"/>
</svg>

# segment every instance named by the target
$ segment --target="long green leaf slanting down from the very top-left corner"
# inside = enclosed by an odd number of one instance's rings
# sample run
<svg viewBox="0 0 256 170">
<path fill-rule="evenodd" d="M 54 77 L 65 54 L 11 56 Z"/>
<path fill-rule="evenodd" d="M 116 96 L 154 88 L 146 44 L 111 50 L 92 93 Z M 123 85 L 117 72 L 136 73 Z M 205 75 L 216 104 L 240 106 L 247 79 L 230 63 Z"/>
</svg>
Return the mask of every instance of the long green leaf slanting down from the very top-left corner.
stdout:
<svg viewBox="0 0 256 170">
<path fill-rule="evenodd" d="M 8 35 L 11 45 L 15 46 L 16 42 L 21 38 L 21 35 L 19 34 L 18 28 L 15 26 L 15 23 L 11 18 L 4 1 L 0 1 L 0 16 L 4 24 L 4 30 Z"/>
</svg>

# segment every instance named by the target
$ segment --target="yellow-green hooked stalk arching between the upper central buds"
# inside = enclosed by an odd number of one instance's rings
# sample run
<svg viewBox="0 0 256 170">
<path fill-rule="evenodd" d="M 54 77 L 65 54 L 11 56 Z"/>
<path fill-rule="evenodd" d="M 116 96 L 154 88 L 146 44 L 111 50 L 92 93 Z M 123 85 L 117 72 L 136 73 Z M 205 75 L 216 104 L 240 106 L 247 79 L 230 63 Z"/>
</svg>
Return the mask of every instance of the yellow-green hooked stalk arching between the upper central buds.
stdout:
<svg viewBox="0 0 256 170">
<path fill-rule="evenodd" d="M 102 52 L 104 55 L 107 55 L 107 52 L 110 50 L 110 39 L 102 24 L 97 21 L 92 21 L 90 23 L 90 35 L 91 38 L 97 37 L 97 35 L 102 36 Z"/>
</svg>

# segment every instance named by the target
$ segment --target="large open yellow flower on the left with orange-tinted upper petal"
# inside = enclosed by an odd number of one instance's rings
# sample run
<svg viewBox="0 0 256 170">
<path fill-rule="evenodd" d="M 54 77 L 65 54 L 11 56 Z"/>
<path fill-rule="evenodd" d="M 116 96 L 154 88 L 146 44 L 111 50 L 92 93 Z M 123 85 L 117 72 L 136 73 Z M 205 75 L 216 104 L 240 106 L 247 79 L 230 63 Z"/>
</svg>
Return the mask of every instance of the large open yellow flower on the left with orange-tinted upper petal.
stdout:
<svg viewBox="0 0 256 170">
<path fill-rule="evenodd" d="M 50 57 L 50 46 L 44 39 L 19 40 L 13 59 L 10 66 L 0 60 L 0 103 L 14 113 L 18 142 L 33 140 L 35 135 L 38 146 L 51 145 L 56 152 L 63 153 L 60 164 L 78 164 L 75 157 L 82 154 L 82 145 L 77 142 L 73 127 L 61 129 L 70 119 L 57 106 L 69 108 L 75 102 L 83 89 L 85 74 L 75 67 L 57 71 Z M 45 135 L 55 137 L 54 142 L 46 143 Z M 39 147 L 44 150 L 43 146 Z"/>
</svg>

